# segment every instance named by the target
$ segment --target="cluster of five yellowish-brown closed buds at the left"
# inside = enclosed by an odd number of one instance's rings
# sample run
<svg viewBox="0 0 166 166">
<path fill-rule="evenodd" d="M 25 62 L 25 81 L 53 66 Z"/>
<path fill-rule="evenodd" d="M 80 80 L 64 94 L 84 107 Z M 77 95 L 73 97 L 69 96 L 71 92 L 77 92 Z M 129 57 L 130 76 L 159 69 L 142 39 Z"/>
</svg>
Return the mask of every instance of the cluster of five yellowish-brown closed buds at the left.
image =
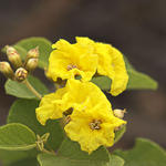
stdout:
<svg viewBox="0 0 166 166">
<path fill-rule="evenodd" d="M 6 46 L 7 56 L 9 62 L 0 62 L 0 72 L 8 79 L 22 82 L 27 79 L 28 74 L 38 66 L 39 61 L 39 46 L 29 50 L 24 62 L 22 62 L 20 54 L 13 46 Z"/>
</svg>

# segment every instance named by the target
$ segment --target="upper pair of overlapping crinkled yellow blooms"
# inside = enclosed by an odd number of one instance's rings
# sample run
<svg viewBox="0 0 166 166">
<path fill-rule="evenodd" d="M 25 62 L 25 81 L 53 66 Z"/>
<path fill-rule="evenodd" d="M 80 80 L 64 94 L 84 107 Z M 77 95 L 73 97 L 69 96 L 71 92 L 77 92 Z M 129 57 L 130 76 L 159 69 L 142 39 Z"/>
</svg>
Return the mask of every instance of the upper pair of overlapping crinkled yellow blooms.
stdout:
<svg viewBox="0 0 166 166">
<path fill-rule="evenodd" d="M 54 81 L 76 75 L 81 75 L 82 81 L 91 81 L 97 72 L 112 80 L 112 95 L 118 95 L 126 89 L 128 75 L 123 55 L 111 44 L 77 37 L 74 44 L 60 40 L 52 48 L 55 50 L 49 59 L 48 76 Z"/>
</svg>

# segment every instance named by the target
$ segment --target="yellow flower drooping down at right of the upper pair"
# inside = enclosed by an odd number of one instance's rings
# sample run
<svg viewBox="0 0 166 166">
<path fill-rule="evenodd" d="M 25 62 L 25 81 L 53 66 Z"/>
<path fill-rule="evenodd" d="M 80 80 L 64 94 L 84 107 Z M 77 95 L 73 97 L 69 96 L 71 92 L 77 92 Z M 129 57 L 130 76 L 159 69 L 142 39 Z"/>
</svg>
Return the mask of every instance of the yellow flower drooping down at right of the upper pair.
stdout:
<svg viewBox="0 0 166 166">
<path fill-rule="evenodd" d="M 118 95 L 126 90 L 128 75 L 125 68 L 123 54 L 111 44 L 93 42 L 87 38 L 76 38 L 79 44 L 93 43 L 94 54 L 97 54 L 97 73 L 108 76 L 112 80 L 111 94 Z"/>
</svg>

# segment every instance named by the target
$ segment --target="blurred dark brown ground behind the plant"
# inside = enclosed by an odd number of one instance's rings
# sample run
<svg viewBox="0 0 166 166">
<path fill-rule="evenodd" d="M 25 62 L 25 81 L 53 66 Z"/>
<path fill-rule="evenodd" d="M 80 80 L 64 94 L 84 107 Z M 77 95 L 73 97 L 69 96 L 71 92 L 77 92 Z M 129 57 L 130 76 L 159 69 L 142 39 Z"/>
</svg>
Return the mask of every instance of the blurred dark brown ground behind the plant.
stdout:
<svg viewBox="0 0 166 166">
<path fill-rule="evenodd" d="M 128 148 L 136 137 L 166 147 L 166 1 L 165 0 L 1 0 L 0 48 L 27 37 L 73 41 L 85 35 L 118 48 L 141 72 L 159 83 L 156 92 L 131 91 L 111 98 L 126 107 L 127 133 L 116 145 Z M 1 59 L 1 58 L 0 58 Z M 1 59 L 2 60 L 2 59 Z M 14 97 L 3 91 L 0 74 L 0 124 Z M 111 97 L 111 96 L 108 96 Z"/>
</svg>

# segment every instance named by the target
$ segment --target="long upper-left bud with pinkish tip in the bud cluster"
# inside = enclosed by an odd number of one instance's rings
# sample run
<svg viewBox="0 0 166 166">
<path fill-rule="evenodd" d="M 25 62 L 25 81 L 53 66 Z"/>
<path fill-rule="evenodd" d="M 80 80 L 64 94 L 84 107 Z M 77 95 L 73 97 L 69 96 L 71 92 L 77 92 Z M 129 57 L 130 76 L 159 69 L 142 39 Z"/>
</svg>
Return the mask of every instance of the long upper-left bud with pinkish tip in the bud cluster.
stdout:
<svg viewBox="0 0 166 166">
<path fill-rule="evenodd" d="M 7 45 L 6 48 L 7 48 L 8 59 L 13 64 L 13 66 L 15 69 L 22 66 L 22 61 L 18 51 L 13 46 Z"/>
</svg>

